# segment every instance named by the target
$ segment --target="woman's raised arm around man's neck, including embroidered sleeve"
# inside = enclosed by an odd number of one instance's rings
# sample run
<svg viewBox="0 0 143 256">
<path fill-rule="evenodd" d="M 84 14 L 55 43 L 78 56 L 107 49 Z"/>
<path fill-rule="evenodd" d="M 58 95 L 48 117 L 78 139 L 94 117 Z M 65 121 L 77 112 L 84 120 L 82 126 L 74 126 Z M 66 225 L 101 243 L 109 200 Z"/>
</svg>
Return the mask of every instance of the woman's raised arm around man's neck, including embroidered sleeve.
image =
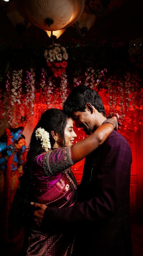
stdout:
<svg viewBox="0 0 143 256">
<path fill-rule="evenodd" d="M 41 154 L 35 159 L 35 162 L 44 169 L 47 176 L 59 173 L 74 165 L 98 148 L 114 128 L 117 128 L 116 117 L 106 119 L 103 123 L 87 138 L 78 141 L 73 146 L 58 148 L 49 153 Z"/>
</svg>

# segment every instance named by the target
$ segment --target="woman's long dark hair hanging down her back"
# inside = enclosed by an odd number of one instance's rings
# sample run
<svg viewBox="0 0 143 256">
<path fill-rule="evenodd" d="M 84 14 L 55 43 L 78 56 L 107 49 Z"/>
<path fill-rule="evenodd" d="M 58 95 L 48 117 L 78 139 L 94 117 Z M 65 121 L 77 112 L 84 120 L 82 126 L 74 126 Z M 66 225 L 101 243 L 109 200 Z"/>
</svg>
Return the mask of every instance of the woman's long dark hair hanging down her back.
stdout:
<svg viewBox="0 0 143 256">
<path fill-rule="evenodd" d="M 31 196 L 32 177 L 34 175 L 32 170 L 34 159 L 37 155 L 41 154 L 44 151 L 41 146 L 41 140 L 37 139 L 35 136 L 35 131 L 37 130 L 37 128 L 41 127 L 47 132 L 49 132 L 51 148 L 53 147 L 55 142 L 51 135 L 51 130 L 54 130 L 54 132 L 58 133 L 58 135 L 61 138 L 63 138 L 64 144 L 65 144 L 64 131 L 65 131 L 65 126 L 67 124 L 68 119 L 69 117 L 65 115 L 65 113 L 62 110 L 59 110 L 57 108 L 51 108 L 49 110 L 46 110 L 41 115 L 40 120 L 38 121 L 35 129 L 32 132 L 32 135 L 30 138 L 29 150 L 26 157 L 27 161 L 23 166 L 24 175 L 22 175 L 19 179 L 20 180 L 19 190 L 21 191 L 24 190 L 23 192 L 19 191 L 19 193 L 21 193 L 21 195 L 24 197 L 24 200 L 25 200 L 24 211 L 26 210 L 26 206 L 28 206 L 30 202 L 34 200 Z"/>
</svg>

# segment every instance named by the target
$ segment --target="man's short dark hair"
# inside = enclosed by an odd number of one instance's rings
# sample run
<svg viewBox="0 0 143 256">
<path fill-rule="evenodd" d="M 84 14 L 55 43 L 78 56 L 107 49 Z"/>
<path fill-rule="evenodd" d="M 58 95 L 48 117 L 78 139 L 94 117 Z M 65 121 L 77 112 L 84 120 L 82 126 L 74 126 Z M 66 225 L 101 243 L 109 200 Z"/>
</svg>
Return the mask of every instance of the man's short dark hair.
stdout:
<svg viewBox="0 0 143 256">
<path fill-rule="evenodd" d="M 63 111 L 66 115 L 72 117 L 73 112 L 84 112 L 87 102 L 91 103 L 98 112 L 102 112 L 102 115 L 106 117 L 105 108 L 100 95 L 86 85 L 79 85 L 69 93 L 63 105 Z"/>
</svg>

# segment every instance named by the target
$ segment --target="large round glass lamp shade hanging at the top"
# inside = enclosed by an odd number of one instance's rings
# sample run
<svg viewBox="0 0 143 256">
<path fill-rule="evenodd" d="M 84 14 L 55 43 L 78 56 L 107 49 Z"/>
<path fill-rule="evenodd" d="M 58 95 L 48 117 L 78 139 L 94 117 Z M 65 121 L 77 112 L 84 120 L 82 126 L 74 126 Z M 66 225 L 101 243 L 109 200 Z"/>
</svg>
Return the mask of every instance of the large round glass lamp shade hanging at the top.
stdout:
<svg viewBox="0 0 143 256">
<path fill-rule="evenodd" d="M 85 0 L 14 0 L 14 3 L 30 24 L 48 31 L 70 27 L 85 7 Z"/>
</svg>

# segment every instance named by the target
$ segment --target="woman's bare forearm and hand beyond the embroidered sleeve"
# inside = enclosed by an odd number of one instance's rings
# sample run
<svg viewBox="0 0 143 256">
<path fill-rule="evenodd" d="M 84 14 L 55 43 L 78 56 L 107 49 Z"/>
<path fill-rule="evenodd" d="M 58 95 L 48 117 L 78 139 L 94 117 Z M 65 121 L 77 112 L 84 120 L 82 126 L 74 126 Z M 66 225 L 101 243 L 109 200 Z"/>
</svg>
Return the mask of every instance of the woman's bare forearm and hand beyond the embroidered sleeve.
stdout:
<svg viewBox="0 0 143 256">
<path fill-rule="evenodd" d="M 79 162 L 93 150 L 98 148 L 115 128 L 117 130 L 117 126 L 117 117 L 106 119 L 91 135 L 74 144 L 72 146 L 72 157 L 74 162 Z"/>
</svg>

